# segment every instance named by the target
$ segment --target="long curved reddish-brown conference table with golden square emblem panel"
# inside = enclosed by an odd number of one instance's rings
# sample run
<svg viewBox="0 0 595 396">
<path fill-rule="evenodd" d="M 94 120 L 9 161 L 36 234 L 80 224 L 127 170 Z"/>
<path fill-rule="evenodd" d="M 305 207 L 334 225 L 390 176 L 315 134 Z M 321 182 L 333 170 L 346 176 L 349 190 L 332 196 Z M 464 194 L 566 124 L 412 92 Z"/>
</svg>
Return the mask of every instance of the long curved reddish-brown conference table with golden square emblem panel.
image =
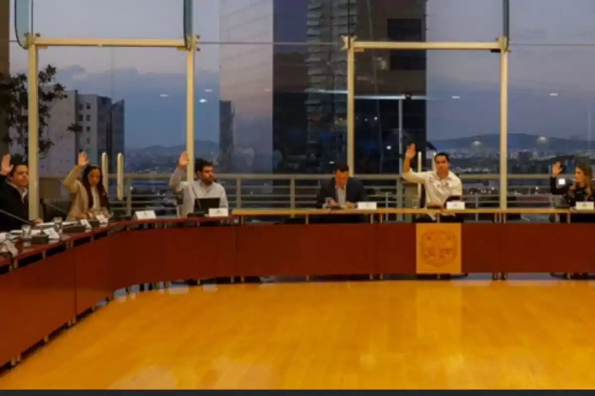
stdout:
<svg viewBox="0 0 595 396">
<path fill-rule="evenodd" d="M 116 290 L 137 284 L 248 276 L 595 272 L 591 255 L 571 254 L 574 246 L 590 246 L 593 224 L 503 221 L 510 214 L 569 210 L 464 213 L 493 214 L 499 220 L 385 221 L 387 216 L 440 214 L 418 209 L 234 210 L 225 219 L 117 221 L 48 245 L 17 245 L 16 256 L 0 258 L 0 366 L 14 365 L 52 332 L 74 324 Z M 369 221 L 309 224 L 312 217 L 342 214 Z M 305 224 L 246 225 L 247 218 L 264 217 L 301 217 Z M 213 221 L 228 226 L 204 226 Z"/>
</svg>

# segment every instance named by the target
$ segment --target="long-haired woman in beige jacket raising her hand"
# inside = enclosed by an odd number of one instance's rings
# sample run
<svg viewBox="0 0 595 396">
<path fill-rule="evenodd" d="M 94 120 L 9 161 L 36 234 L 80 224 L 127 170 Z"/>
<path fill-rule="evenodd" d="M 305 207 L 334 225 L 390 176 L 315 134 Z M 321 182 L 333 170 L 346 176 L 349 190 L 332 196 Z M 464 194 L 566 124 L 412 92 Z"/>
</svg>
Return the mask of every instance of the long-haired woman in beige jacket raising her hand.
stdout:
<svg viewBox="0 0 595 396">
<path fill-rule="evenodd" d="M 98 215 L 109 217 L 108 194 L 101 180 L 101 169 L 89 165 L 87 153 L 79 153 L 77 166 L 64 179 L 64 188 L 70 193 L 72 202 L 68 221 L 92 219 Z"/>
</svg>

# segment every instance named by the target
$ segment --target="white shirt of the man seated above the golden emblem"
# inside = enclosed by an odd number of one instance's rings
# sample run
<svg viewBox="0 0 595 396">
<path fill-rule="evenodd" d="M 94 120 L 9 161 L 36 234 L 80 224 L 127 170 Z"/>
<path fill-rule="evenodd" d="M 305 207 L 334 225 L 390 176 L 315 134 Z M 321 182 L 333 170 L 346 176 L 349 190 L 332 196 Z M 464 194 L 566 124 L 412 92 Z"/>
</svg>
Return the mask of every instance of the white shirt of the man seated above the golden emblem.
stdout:
<svg viewBox="0 0 595 396">
<path fill-rule="evenodd" d="M 425 206 L 443 206 L 446 199 L 453 195 L 463 195 L 463 183 L 454 173 L 450 172 L 444 179 L 440 179 L 435 171 L 403 173 L 403 179 L 411 183 L 425 186 Z"/>
</svg>

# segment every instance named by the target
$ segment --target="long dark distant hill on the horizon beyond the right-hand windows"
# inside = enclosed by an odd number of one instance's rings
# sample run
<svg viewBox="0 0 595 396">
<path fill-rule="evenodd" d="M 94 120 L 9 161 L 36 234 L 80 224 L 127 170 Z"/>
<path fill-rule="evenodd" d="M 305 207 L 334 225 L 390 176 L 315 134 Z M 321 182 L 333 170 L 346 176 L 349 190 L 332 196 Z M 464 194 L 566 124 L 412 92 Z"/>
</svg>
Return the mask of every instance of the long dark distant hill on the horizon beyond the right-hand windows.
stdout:
<svg viewBox="0 0 595 396">
<path fill-rule="evenodd" d="M 500 135 L 477 135 L 466 138 L 430 140 L 437 150 L 461 150 L 464 148 L 477 150 L 499 150 Z M 529 134 L 509 134 L 509 150 L 536 150 L 537 148 L 556 150 L 558 152 L 572 153 L 585 150 L 588 146 L 586 140 L 540 137 Z M 593 145 L 595 147 L 595 144 Z"/>
</svg>

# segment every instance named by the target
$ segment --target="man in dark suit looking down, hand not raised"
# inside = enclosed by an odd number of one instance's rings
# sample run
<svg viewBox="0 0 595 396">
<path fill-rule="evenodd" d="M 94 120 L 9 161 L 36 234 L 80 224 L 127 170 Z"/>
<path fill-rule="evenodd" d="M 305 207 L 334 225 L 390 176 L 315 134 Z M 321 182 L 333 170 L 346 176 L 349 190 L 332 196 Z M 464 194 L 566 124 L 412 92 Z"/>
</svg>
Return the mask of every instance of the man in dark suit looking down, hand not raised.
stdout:
<svg viewBox="0 0 595 396">
<path fill-rule="evenodd" d="M 361 180 L 349 176 L 349 167 L 347 164 L 338 163 L 335 166 L 333 178 L 321 182 L 320 191 L 316 198 L 316 205 L 318 208 L 354 209 L 358 202 L 365 202 L 367 199 L 364 184 Z M 359 223 L 362 217 L 333 216 L 332 220 L 333 222 L 343 220 Z"/>
</svg>

